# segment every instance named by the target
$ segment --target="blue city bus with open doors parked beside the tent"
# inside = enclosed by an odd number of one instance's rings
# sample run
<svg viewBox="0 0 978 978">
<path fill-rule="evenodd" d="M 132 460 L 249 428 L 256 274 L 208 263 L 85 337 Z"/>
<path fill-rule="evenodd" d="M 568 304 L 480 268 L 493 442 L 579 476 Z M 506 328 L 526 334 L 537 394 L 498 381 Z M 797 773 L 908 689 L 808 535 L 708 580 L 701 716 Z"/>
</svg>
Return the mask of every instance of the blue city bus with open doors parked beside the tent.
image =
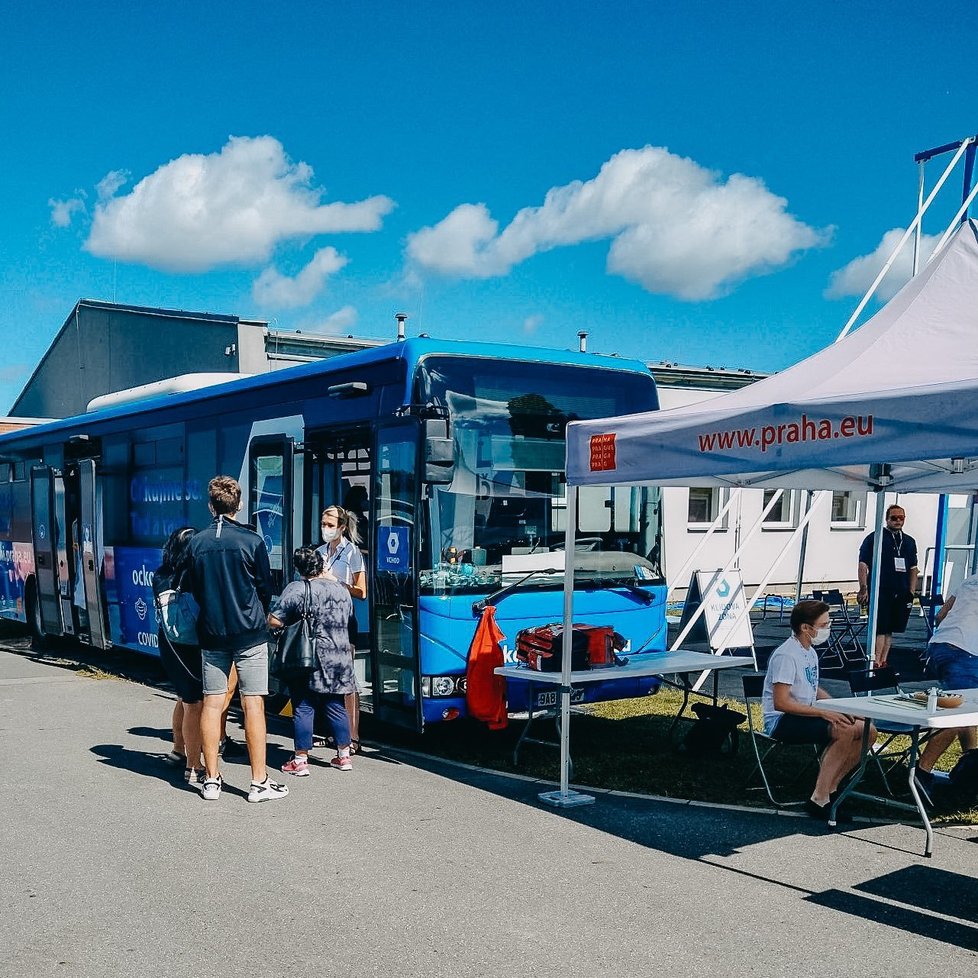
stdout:
<svg viewBox="0 0 978 978">
<path fill-rule="evenodd" d="M 466 715 L 480 613 L 519 629 L 562 615 L 565 521 L 575 609 L 625 654 L 665 648 L 659 490 L 584 488 L 568 516 L 568 421 L 658 406 L 645 365 L 618 357 L 411 339 L 229 383 L 138 398 L 0 436 L 0 614 L 37 642 L 156 654 L 152 576 L 174 528 L 210 519 L 207 483 L 235 476 L 276 590 L 322 510 L 360 518 L 362 707 L 423 729 Z M 655 679 L 575 690 L 639 696 Z M 528 709 L 512 683 L 509 709 Z M 541 692 L 541 697 L 548 693 Z M 541 701 L 540 705 L 546 705 Z"/>
</svg>

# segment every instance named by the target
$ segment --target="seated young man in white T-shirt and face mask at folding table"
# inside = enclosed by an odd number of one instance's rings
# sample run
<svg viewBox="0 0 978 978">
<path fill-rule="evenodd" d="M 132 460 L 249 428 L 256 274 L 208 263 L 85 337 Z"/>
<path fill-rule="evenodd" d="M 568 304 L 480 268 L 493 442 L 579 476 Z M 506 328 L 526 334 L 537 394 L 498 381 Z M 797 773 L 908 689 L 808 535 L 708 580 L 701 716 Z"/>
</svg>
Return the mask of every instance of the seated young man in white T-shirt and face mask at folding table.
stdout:
<svg viewBox="0 0 978 978">
<path fill-rule="evenodd" d="M 859 763 L 864 726 L 863 720 L 812 706 L 816 700 L 830 698 L 818 685 L 818 656 L 812 647 L 828 641 L 830 628 L 829 606 L 824 601 L 795 605 L 792 635 L 771 654 L 761 700 L 769 737 L 786 744 L 816 744 L 821 749 L 815 790 L 805 802 L 805 811 L 822 821 L 828 821 L 839 783 Z M 870 736 L 875 737 L 872 727 Z"/>
</svg>

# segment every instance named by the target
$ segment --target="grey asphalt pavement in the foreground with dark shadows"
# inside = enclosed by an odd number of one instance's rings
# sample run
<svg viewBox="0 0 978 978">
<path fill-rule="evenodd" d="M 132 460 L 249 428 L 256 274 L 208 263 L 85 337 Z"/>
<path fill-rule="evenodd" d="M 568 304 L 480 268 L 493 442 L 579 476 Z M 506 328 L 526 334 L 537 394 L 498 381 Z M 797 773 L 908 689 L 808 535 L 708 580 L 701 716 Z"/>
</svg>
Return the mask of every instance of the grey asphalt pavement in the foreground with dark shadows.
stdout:
<svg viewBox="0 0 978 978">
<path fill-rule="evenodd" d="M 975 827 L 925 859 L 910 824 L 554 810 L 548 784 L 378 744 L 262 805 L 228 763 L 208 803 L 162 761 L 172 705 L 0 650 L 4 978 L 978 972 Z"/>
</svg>

